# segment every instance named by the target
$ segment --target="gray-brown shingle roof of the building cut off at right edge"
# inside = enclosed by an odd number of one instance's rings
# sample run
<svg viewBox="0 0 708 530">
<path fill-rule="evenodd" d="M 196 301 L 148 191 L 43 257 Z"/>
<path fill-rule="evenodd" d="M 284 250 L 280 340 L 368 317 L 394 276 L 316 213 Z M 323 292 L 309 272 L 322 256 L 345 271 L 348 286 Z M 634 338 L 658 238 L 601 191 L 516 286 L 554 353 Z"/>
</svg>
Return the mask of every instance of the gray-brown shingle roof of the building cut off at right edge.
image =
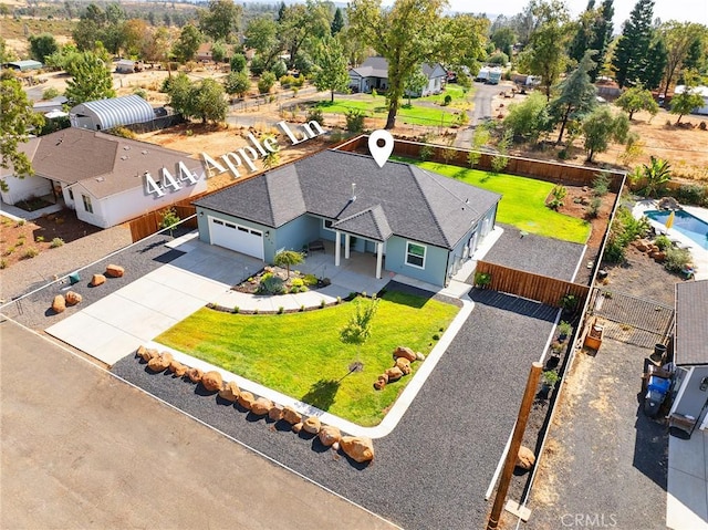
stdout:
<svg viewBox="0 0 708 530">
<path fill-rule="evenodd" d="M 708 280 L 676 283 L 674 362 L 708 364 Z"/>
</svg>

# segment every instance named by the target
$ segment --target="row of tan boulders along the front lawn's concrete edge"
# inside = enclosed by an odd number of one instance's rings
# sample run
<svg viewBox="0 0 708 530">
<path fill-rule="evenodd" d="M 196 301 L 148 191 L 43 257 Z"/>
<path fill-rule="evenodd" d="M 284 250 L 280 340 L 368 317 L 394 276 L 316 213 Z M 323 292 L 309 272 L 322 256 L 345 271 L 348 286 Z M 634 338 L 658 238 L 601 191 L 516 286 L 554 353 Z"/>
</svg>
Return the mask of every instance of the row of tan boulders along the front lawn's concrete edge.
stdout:
<svg viewBox="0 0 708 530">
<path fill-rule="evenodd" d="M 415 354 L 414 354 L 415 355 Z M 337 427 L 323 425 L 317 416 L 303 417 L 301 413 L 291 406 L 281 406 L 267 397 L 257 397 L 252 393 L 242 391 L 233 381 L 223 382 L 221 374 L 216 371 L 204 372 L 197 367 L 189 367 L 175 361 L 169 352 L 158 352 L 156 349 L 139 346 L 135 356 L 147 364 L 152 374 L 168 371 L 173 377 L 189 380 L 191 383 L 201 384 L 209 394 L 217 393 L 219 398 L 239 407 L 248 414 L 268 418 L 267 422 L 285 422 L 291 425 L 295 434 L 301 432 L 316 436 L 324 447 L 331 447 L 335 451 L 342 450 L 348 458 L 367 464 L 374 459 L 374 444 L 366 436 L 343 436 Z M 236 407 L 238 408 L 238 407 Z M 308 437 L 304 437 L 308 439 Z"/>
</svg>

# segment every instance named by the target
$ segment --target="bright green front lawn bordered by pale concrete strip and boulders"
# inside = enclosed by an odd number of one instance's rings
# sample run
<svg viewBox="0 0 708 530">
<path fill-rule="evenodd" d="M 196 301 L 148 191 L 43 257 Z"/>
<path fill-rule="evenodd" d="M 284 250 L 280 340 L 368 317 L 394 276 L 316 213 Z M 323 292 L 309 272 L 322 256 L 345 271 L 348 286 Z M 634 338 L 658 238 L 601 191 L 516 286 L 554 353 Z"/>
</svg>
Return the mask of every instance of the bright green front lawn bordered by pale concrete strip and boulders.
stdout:
<svg viewBox="0 0 708 530">
<path fill-rule="evenodd" d="M 362 426 L 377 425 L 410 381 L 383 391 L 376 377 L 393 365 L 398 345 L 429 353 L 434 334 L 458 312 L 451 304 L 397 291 L 381 299 L 369 341 L 361 347 L 364 370 L 347 375 L 356 346 L 340 341 L 354 304 L 303 313 L 242 315 L 200 309 L 156 341 L 229 372 L 302 399 Z M 414 373 L 420 363 L 413 363 Z"/>
</svg>

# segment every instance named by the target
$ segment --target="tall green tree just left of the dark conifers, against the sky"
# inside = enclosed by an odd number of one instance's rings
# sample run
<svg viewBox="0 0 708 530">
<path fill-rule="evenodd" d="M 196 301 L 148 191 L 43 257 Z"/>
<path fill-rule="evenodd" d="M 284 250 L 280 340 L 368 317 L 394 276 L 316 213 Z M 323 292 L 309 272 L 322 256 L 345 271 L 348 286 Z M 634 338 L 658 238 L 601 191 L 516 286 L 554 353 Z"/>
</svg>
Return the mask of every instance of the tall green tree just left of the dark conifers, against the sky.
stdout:
<svg viewBox="0 0 708 530">
<path fill-rule="evenodd" d="M 558 83 L 565 70 L 568 55 L 565 46 L 571 31 L 568 8 L 560 0 L 531 2 L 537 28 L 531 33 L 528 50 L 521 63 L 529 73 L 541 76 L 545 97 L 551 100 L 551 86 Z"/>
</svg>

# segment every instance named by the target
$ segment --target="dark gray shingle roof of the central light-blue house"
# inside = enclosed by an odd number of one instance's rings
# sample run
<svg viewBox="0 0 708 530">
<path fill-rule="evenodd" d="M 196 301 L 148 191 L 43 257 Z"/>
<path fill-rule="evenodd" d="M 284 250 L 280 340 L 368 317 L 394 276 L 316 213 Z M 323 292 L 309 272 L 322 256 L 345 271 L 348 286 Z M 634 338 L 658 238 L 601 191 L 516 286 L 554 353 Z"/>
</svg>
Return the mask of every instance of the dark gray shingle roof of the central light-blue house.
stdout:
<svg viewBox="0 0 708 530">
<path fill-rule="evenodd" d="M 272 228 L 306 212 L 371 239 L 395 233 L 451 249 L 500 198 L 408 164 L 379 168 L 371 156 L 326 150 L 195 204 Z"/>
</svg>

